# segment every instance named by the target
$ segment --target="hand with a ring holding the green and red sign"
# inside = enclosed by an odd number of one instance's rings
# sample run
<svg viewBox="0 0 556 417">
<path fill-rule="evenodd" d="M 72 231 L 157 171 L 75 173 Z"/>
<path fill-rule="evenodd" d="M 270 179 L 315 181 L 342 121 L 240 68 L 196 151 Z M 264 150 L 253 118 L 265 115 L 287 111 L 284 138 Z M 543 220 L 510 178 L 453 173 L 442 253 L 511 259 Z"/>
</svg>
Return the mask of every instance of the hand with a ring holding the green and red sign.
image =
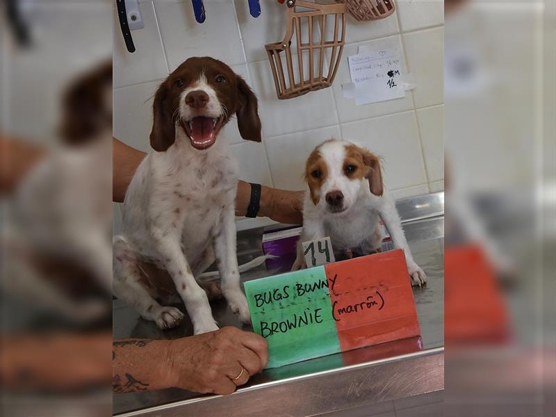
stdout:
<svg viewBox="0 0 556 417">
<path fill-rule="evenodd" d="M 224 327 L 170 341 L 166 363 L 171 386 L 227 395 L 261 372 L 267 362 L 265 338 L 236 327 Z"/>
</svg>

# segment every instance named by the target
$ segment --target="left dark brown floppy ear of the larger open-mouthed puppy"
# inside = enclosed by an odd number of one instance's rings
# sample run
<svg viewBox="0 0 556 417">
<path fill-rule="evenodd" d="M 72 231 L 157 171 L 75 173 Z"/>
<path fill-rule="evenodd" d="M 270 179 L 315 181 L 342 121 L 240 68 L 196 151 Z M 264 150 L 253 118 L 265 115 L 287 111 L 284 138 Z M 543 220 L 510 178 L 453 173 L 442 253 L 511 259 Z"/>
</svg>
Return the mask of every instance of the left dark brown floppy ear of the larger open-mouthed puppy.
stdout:
<svg viewBox="0 0 556 417">
<path fill-rule="evenodd" d="M 164 152 L 176 140 L 176 126 L 169 108 L 170 104 L 167 103 L 167 94 L 168 88 L 164 81 L 156 90 L 152 106 L 151 147 L 158 152 Z"/>
</svg>

